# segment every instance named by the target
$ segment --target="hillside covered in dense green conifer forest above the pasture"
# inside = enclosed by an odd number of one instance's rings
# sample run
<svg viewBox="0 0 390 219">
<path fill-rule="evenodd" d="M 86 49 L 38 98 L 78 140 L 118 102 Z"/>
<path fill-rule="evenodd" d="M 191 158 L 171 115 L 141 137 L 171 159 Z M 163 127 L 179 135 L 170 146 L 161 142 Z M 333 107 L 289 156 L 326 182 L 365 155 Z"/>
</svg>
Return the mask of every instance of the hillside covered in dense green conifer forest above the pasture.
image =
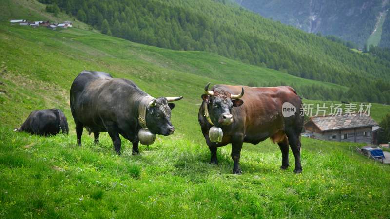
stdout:
<svg viewBox="0 0 390 219">
<path fill-rule="evenodd" d="M 51 0 L 41 0 L 50 5 Z M 68 14 L 102 33 L 152 46 L 207 51 L 294 76 L 336 83 L 347 99 L 390 102 L 377 89 L 389 68 L 378 57 L 352 52 L 325 37 L 307 34 L 252 12 L 211 0 L 59 0 Z M 388 60 L 387 60 L 388 61 Z M 364 81 L 364 82 L 363 82 Z"/>
</svg>

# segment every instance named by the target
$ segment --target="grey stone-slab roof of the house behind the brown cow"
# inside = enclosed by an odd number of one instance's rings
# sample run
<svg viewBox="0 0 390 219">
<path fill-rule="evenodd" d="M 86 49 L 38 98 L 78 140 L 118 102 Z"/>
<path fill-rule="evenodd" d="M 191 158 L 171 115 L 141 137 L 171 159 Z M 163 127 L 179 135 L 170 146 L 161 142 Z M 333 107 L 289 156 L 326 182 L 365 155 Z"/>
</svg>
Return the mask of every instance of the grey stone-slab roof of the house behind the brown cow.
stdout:
<svg viewBox="0 0 390 219">
<path fill-rule="evenodd" d="M 310 117 L 310 120 L 306 124 L 310 122 L 312 122 L 320 131 L 378 126 L 378 123 L 370 116 L 364 114 L 316 116 Z"/>
</svg>

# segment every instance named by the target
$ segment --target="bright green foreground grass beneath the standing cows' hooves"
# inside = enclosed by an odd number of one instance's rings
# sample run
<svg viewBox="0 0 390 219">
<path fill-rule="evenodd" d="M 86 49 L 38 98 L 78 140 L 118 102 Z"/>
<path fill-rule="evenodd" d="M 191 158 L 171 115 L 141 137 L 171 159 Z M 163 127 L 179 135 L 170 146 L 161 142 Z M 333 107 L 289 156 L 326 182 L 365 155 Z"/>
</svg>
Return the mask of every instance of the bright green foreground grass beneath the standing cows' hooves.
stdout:
<svg viewBox="0 0 390 219">
<path fill-rule="evenodd" d="M 7 218 L 386 218 L 389 167 L 352 153 L 348 143 L 302 139 L 304 173 L 278 169 L 266 141 L 244 147 L 244 174 L 231 174 L 230 148 L 208 164 L 207 146 L 157 140 L 115 155 L 109 137 L 40 138 L 0 131 L 0 215 Z M 351 146 L 356 146 L 355 144 Z M 255 148 L 256 147 L 256 148 Z M 292 157 L 292 156 L 291 156 Z M 290 159 L 293 164 L 293 159 Z M 381 185 L 381 186 L 378 186 Z"/>
</svg>

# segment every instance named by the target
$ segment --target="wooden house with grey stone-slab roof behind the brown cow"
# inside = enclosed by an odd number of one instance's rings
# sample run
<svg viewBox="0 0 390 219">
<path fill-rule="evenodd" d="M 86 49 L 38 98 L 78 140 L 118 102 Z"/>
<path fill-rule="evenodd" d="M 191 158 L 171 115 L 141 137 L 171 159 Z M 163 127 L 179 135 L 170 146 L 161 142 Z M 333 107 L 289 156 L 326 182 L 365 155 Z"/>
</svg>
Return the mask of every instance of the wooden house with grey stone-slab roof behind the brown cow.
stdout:
<svg viewBox="0 0 390 219">
<path fill-rule="evenodd" d="M 304 124 L 306 136 L 339 142 L 376 142 L 372 135 L 378 124 L 366 115 L 316 116 Z"/>
</svg>

